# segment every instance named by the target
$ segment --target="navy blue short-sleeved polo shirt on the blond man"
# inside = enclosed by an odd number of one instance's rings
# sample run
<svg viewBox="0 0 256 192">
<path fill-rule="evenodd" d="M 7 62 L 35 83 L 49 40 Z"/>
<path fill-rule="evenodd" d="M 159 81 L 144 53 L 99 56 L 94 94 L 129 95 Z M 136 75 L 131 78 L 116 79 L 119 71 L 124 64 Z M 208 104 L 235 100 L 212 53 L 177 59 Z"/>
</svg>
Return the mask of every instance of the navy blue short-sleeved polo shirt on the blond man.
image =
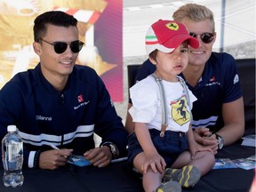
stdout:
<svg viewBox="0 0 256 192">
<path fill-rule="evenodd" d="M 146 60 L 139 69 L 135 82 L 147 77 L 155 70 L 156 66 Z M 180 76 L 186 81 L 185 76 L 182 74 Z M 212 52 L 196 86 L 192 87 L 188 83 L 187 85 L 197 98 L 192 109 L 194 129 L 205 126 L 212 132 L 217 132 L 223 126 L 222 104 L 242 97 L 236 60 L 225 52 Z"/>
</svg>

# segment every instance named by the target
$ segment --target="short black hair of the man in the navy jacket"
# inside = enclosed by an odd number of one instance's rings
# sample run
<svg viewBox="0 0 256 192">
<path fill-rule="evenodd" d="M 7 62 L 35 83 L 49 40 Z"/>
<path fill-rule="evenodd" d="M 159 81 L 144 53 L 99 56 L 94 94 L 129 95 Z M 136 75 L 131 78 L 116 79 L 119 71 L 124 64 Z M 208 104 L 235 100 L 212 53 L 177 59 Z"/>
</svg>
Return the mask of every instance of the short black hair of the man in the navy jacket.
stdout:
<svg viewBox="0 0 256 192">
<path fill-rule="evenodd" d="M 77 25 L 77 20 L 72 15 L 66 12 L 50 11 L 44 12 L 36 17 L 34 21 L 34 41 L 38 42 L 40 38 L 43 38 L 46 34 L 47 24 L 55 26 L 66 27 Z M 77 27 L 76 27 L 77 28 Z"/>
</svg>

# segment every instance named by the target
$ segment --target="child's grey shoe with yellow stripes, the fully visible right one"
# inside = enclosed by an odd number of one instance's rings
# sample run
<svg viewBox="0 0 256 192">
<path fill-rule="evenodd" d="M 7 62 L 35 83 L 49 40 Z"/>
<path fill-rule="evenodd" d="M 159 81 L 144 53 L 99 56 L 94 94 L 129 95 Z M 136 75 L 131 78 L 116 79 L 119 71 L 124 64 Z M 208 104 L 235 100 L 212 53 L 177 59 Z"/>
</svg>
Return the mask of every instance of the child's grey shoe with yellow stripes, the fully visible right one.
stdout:
<svg viewBox="0 0 256 192">
<path fill-rule="evenodd" d="M 193 165 L 186 165 L 182 169 L 167 168 L 164 172 L 164 182 L 175 180 L 185 188 L 193 187 L 200 177 L 200 171 Z"/>
</svg>

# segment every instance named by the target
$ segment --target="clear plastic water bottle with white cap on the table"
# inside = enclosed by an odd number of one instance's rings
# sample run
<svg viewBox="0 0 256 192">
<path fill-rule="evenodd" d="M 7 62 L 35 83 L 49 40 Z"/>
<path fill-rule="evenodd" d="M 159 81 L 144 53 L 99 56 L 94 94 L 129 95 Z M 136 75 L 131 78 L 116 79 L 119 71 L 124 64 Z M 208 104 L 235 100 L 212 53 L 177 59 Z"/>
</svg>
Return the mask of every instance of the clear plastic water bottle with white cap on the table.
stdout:
<svg viewBox="0 0 256 192">
<path fill-rule="evenodd" d="M 4 186 L 16 188 L 23 184 L 23 142 L 16 132 L 16 125 L 7 127 L 7 134 L 2 140 L 2 161 L 4 164 Z"/>
</svg>

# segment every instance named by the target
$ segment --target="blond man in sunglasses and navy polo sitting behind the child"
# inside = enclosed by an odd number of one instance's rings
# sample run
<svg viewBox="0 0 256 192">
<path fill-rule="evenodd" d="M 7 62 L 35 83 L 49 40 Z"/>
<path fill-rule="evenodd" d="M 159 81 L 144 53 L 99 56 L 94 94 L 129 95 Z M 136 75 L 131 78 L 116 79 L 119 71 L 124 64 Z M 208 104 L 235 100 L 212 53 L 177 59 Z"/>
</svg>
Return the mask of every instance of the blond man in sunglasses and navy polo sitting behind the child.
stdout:
<svg viewBox="0 0 256 192">
<path fill-rule="evenodd" d="M 244 101 L 236 62 L 228 53 L 212 52 L 216 33 L 211 10 L 199 4 L 185 4 L 172 17 L 183 23 L 190 36 L 196 37 L 200 43 L 197 49 L 189 48 L 188 67 L 180 76 L 197 98 L 193 103 L 192 127 L 198 147 L 211 147 L 217 153 L 218 149 L 236 142 L 244 134 Z M 136 80 L 155 70 L 156 66 L 146 60 Z M 128 108 L 131 106 L 129 103 Z M 125 129 L 133 131 L 129 113 Z"/>
</svg>

